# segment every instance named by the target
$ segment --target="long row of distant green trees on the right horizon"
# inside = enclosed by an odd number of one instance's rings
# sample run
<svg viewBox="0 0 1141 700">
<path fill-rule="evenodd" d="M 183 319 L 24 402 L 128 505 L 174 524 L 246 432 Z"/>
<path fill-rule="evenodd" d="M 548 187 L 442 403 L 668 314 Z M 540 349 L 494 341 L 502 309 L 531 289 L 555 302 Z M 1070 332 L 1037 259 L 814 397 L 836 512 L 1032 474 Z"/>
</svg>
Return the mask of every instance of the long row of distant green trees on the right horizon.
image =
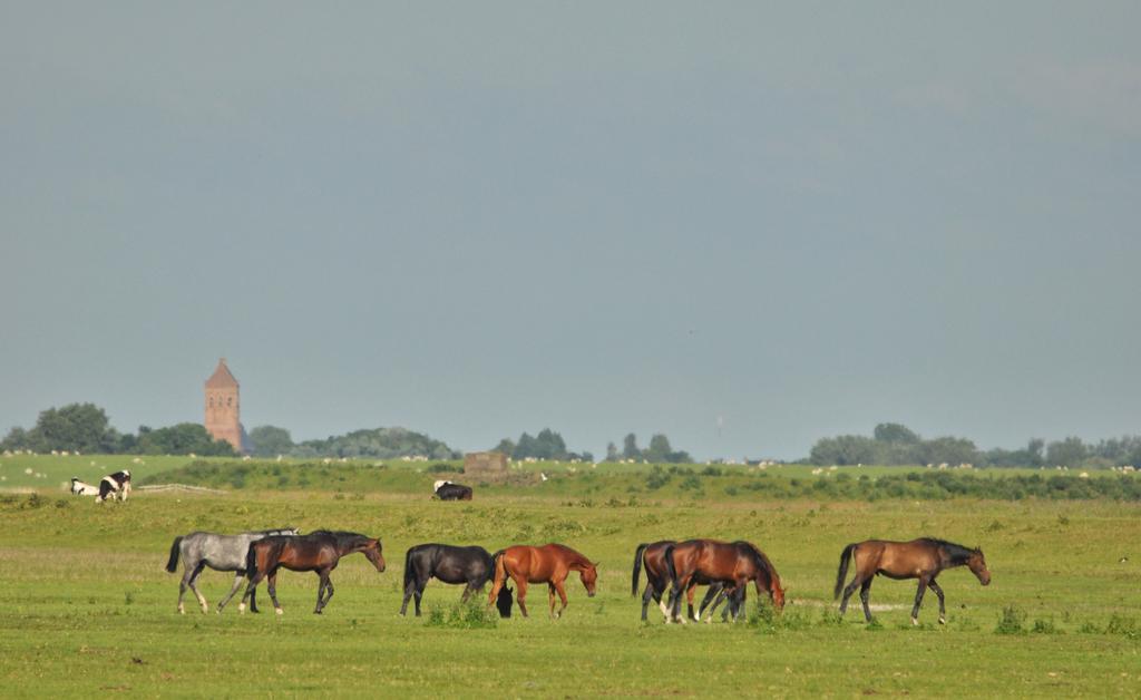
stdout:
<svg viewBox="0 0 1141 700">
<path fill-rule="evenodd" d="M 979 449 L 966 437 L 941 436 L 924 440 L 898 423 L 881 423 L 871 436 L 837 435 L 823 437 L 812 445 L 806 464 L 831 465 L 960 465 L 976 467 L 1109 468 L 1141 465 L 1141 436 L 1084 442 L 1066 437 L 1053 442 L 1035 437 L 1025 448 Z"/>
</svg>

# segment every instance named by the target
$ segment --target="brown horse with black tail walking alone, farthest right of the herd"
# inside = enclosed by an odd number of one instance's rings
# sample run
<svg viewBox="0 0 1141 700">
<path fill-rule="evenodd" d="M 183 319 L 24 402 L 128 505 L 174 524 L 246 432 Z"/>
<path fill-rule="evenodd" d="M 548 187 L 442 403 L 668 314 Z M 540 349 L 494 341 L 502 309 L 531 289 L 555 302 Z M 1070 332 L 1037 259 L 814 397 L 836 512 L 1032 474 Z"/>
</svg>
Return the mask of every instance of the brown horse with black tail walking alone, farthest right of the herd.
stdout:
<svg viewBox="0 0 1141 700">
<path fill-rule="evenodd" d="M 844 547 L 840 554 L 840 570 L 836 572 L 836 587 L 833 597 L 840 597 L 844 578 L 848 576 L 848 563 L 856 562 L 856 577 L 847 588 L 844 598 L 840 602 L 840 614 L 848 609 L 848 598 L 859 586 L 859 600 L 864 603 L 864 617 L 872 621 L 872 611 L 867 606 L 868 592 L 872 589 L 872 578 L 883 574 L 889 579 L 919 579 L 920 587 L 915 592 L 915 605 L 912 608 L 912 625 L 919 625 L 920 603 L 923 592 L 931 588 L 939 596 L 939 623 L 947 623 L 947 609 L 942 601 L 942 588 L 934 578 L 944 569 L 966 565 L 978 577 L 984 586 L 990 584 L 990 572 L 982 550 L 976 547 L 969 549 L 947 540 L 923 537 L 909 542 L 892 542 L 888 540 L 864 540 Z"/>
</svg>

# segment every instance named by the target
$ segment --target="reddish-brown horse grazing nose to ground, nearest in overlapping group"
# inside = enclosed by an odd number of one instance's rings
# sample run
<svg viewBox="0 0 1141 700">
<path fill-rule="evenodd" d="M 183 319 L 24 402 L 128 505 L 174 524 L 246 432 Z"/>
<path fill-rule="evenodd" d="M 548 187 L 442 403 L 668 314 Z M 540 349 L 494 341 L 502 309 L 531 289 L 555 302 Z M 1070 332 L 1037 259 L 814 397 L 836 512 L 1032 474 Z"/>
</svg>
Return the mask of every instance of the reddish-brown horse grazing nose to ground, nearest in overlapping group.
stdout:
<svg viewBox="0 0 1141 700">
<path fill-rule="evenodd" d="M 671 619 L 681 620 L 681 594 L 695 584 L 721 584 L 731 596 L 744 593 L 748 581 L 756 586 L 756 594 L 766 593 L 777 610 L 784 610 L 784 589 L 780 577 L 756 545 L 738 540 L 696 539 L 666 546 L 666 563 L 672 565 Z M 689 598 L 693 617 L 693 597 Z M 739 611 L 738 611 L 739 614 Z M 696 619 L 696 618 L 695 618 Z M 669 620 L 667 620 L 669 621 Z"/>
</svg>

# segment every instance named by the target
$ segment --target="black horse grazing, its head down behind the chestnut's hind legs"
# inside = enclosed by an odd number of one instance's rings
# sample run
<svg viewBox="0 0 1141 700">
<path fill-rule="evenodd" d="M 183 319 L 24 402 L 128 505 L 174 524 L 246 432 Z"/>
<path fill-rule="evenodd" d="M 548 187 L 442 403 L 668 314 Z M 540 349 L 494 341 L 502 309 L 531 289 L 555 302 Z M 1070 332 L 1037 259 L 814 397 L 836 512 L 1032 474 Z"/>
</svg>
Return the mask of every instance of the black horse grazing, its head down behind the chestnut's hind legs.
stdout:
<svg viewBox="0 0 1141 700">
<path fill-rule="evenodd" d="M 400 605 L 400 614 L 407 612 L 408 600 L 415 596 L 416 617 L 420 617 L 420 598 L 432 577 L 445 584 L 464 584 L 460 602 L 467 603 L 471 594 L 483 590 L 494 574 L 495 562 L 483 547 L 416 545 L 404 555 L 404 603 Z M 511 617 L 511 589 L 504 587 L 500 590 L 495 604 L 501 617 Z"/>
</svg>

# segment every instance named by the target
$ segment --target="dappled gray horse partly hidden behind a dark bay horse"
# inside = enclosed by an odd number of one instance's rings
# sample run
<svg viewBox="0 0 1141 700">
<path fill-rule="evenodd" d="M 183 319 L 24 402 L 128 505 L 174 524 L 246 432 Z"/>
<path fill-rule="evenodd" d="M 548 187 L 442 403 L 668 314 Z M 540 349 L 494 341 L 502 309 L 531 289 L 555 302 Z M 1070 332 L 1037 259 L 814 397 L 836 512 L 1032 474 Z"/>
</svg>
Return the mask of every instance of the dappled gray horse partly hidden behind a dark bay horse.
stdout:
<svg viewBox="0 0 1141 700">
<path fill-rule="evenodd" d="M 274 534 L 298 533 L 297 528 L 278 528 L 276 530 L 254 530 L 241 534 L 192 532 L 183 537 L 176 537 L 175 542 L 170 546 L 170 561 L 167 562 L 167 571 L 175 573 L 178 569 L 178 556 L 181 555 L 185 569 L 183 570 L 183 580 L 178 585 L 178 612 L 186 613 L 186 609 L 183 608 L 183 596 L 186 595 L 187 588 L 193 590 L 194 595 L 199 598 L 202 612 L 209 610 L 205 597 L 199 593 L 194 582 L 197 581 L 202 570 L 210 566 L 215 571 L 236 572 L 234 574 L 234 586 L 226 594 L 226 597 L 218 603 L 218 613 L 220 614 L 221 609 L 234 597 L 234 594 L 237 593 L 237 589 L 242 585 L 242 579 L 245 578 L 245 555 L 250 550 L 250 544 Z M 258 612 L 257 605 L 252 600 L 250 601 L 250 610 Z"/>
</svg>

